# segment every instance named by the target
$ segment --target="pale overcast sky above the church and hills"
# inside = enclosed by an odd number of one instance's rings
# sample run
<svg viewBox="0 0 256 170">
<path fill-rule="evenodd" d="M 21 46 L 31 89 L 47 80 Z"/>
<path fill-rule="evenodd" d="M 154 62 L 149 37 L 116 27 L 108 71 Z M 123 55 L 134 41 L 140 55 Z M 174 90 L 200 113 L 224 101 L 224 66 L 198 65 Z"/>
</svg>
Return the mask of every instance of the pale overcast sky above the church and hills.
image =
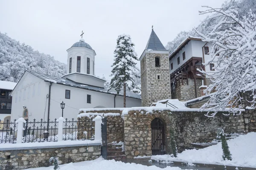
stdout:
<svg viewBox="0 0 256 170">
<path fill-rule="evenodd" d="M 84 40 L 96 51 L 95 73 L 111 74 L 119 34 L 131 35 L 138 57 L 151 25 L 165 46 L 180 31 L 206 16 L 202 5 L 220 7 L 225 0 L 0 0 L 0 32 L 67 63 L 67 49 Z M 138 67 L 140 67 L 138 65 Z"/>
</svg>

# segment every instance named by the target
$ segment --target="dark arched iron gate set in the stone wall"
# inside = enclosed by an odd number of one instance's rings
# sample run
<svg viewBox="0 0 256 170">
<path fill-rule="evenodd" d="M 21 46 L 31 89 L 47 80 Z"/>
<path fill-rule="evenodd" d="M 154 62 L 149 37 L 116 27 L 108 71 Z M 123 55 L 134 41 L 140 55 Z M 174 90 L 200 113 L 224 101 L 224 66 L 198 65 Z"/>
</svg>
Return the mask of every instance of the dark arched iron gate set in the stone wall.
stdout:
<svg viewBox="0 0 256 170">
<path fill-rule="evenodd" d="M 152 135 L 152 155 L 165 154 L 165 130 L 164 123 L 161 119 L 155 118 L 151 122 L 151 135 Z"/>
</svg>

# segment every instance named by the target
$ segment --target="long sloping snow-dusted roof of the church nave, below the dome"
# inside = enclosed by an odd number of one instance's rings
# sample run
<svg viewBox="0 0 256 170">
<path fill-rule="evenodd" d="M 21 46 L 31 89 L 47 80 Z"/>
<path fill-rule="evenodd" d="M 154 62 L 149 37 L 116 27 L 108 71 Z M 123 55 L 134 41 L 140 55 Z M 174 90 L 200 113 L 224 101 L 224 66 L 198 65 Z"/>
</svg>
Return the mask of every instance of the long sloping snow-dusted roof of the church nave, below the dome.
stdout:
<svg viewBox="0 0 256 170">
<path fill-rule="evenodd" d="M 36 77 L 38 77 L 40 79 L 45 80 L 45 81 L 50 80 L 48 82 L 54 82 L 54 83 L 56 82 L 55 84 L 67 85 L 67 86 L 74 87 L 74 88 L 82 88 L 82 89 L 86 89 L 86 90 L 90 90 L 90 91 L 98 91 L 98 92 L 102 92 L 102 93 L 116 94 L 116 95 L 119 95 L 119 96 L 123 96 L 122 91 L 120 91 L 119 94 L 117 94 L 116 91 L 113 90 L 113 89 L 111 89 L 110 91 L 107 91 L 107 88 L 96 87 L 96 86 L 92 86 L 92 85 L 84 85 L 84 84 L 74 82 L 74 81 L 69 80 L 69 79 L 62 79 L 60 77 L 53 77 L 53 76 L 49 76 L 49 75 L 46 75 L 46 74 L 32 72 L 32 71 L 28 71 L 28 72 L 35 75 Z M 131 97 L 131 98 L 135 98 L 135 99 L 141 99 L 141 96 L 139 94 L 136 94 L 136 93 L 131 92 L 131 91 L 126 91 L 126 96 Z"/>
</svg>

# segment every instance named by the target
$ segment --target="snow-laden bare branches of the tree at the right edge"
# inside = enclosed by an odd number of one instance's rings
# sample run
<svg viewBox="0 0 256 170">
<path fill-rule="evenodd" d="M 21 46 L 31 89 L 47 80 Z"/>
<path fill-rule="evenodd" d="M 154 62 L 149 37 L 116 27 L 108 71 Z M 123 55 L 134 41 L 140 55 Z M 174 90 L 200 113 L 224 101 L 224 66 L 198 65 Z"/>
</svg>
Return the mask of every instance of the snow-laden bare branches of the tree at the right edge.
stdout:
<svg viewBox="0 0 256 170">
<path fill-rule="evenodd" d="M 206 6 L 205 6 L 206 7 Z M 214 45 L 211 59 L 205 63 L 215 63 L 215 71 L 205 72 L 212 84 L 205 92 L 216 91 L 209 101 L 202 106 L 215 110 L 207 116 L 215 116 L 218 111 L 230 108 L 236 114 L 243 107 L 242 94 L 249 93 L 252 108 L 256 107 L 256 14 L 252 10 L 241 14 L 236 10 L 206 7 L 200 14 L 215 13 L 221 17 L 209 34 L 209 38 L 199 31 L 206 42 Z M 236 109 L 235 109 L 236 108 Z"/>
</svg>

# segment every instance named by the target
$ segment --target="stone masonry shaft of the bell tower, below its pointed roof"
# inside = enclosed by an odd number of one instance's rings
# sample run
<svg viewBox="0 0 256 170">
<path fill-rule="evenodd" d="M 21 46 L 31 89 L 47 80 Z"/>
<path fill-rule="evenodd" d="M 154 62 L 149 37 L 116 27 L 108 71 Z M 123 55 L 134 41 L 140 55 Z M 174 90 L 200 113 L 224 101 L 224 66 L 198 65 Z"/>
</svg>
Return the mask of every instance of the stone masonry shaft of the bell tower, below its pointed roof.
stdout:
<svg viewBox="0 0 256 170">
<path fill-rule="evenodd" d="M 160 58 L 160 67 L 155 67 L 155 57 Z M 170 68 L 168 54 L 146 53 L 140 62 L 142 80 L 142 106 L 171 98 Z M 157 75 L 160 79 L 157 79 Z"/>
</svg>

